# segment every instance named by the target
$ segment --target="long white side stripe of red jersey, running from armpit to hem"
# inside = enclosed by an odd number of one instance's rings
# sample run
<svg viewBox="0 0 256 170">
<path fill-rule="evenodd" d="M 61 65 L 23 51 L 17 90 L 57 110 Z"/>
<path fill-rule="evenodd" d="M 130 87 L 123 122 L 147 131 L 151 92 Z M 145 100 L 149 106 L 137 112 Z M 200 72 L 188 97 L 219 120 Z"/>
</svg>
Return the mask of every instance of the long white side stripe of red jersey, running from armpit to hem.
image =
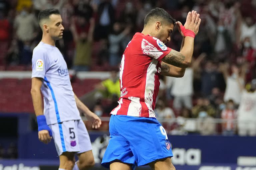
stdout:
<svg viewBox="0 0 256 170">
<path fill-rule="evenodd" d="M 147 69 L 146 86 L 145 86 L 145 104 L 148 107 L 149 117 L 155 117 L 155 112 L 152 109 L 153 105 L 153 94 L 155 89 L 155 73 L 157 72 L 156 59 L 152 59 Z"/>
</svg>

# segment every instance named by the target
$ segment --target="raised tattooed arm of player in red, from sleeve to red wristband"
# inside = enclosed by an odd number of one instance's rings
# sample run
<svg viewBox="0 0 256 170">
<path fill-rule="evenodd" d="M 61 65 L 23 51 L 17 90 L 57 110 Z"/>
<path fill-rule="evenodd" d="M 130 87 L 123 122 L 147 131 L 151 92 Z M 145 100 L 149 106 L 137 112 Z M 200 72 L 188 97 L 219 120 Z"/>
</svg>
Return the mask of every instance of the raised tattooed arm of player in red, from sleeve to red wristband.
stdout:
<svg viewBox="0 0 256 170">
<path fill-rule="evenodd" d="M 189 67 L 194 50 L 194 38 L 186 37 L 183 42 L 180 52 L 172 49 L 161 61 L 180 68 Z"/>
</svg>

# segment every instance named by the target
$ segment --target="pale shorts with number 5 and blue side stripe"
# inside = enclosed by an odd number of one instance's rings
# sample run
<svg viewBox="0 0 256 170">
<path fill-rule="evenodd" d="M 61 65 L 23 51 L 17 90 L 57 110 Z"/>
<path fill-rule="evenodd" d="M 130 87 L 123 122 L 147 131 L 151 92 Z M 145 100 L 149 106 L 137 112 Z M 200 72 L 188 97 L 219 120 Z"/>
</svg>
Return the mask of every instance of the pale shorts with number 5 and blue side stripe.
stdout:
<svg viewBox="0 0 256 170">
<path fill-rule="evenodd" d="M 92 150 L 90 136 L 81 119 L 65 121 L 49 127 L 59 156 L 63 152 L 83 153 Z"/>
</svg>

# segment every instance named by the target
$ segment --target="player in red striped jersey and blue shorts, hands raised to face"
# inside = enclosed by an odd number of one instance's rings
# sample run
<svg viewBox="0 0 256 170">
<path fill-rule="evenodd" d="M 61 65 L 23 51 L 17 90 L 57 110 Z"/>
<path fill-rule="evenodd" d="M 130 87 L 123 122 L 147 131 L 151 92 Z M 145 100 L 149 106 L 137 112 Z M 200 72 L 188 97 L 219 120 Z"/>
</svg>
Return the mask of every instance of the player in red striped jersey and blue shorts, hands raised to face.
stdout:
<svg viewBox="0 0 256 170">
<path fill-rule="evenodd" d="M 161 8 L 151 10 L 145 17 L 143 31 L 133 36 L 122 56 L 121 97 L 111 112 L 104 167 L 131 170 L 149 165 L 155 170 L 175 170 L 168 136 L 154 113 L 159 76 L 184 75 L 200 22 L 196 11 L 188 13 L 184 26 Z M 183 36 L 180 51 L 165 45 L 175 24 Z"/>
</svg>

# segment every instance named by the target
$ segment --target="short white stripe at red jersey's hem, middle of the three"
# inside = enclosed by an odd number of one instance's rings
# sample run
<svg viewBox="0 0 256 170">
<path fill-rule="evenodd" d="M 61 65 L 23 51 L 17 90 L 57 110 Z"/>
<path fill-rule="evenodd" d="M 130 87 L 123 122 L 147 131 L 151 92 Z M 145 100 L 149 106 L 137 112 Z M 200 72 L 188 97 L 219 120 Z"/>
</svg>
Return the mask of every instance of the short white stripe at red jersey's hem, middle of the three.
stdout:
<svg viewBox="0 0 256 170">
<path fill-rule="evenodd" d="M 142 106 L 140 104 L 140 98 L 139 97 L 128 97 L 129 100 L 131 100 L 131 103 L 129 104 L 127 115 L 128 116 L 141 116 L 141 110 Z"/>
</svg>

